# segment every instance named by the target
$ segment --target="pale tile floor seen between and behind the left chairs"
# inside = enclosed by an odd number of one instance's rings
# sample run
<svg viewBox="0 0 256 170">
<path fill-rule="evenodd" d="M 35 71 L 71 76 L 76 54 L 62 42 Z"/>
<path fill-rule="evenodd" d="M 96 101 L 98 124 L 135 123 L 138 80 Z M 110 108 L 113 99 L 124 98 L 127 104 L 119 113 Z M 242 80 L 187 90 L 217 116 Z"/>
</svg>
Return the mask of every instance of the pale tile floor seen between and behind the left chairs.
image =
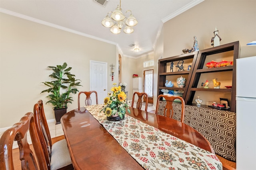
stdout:
<svg viewBox="0 0 256 170">
<path fill-rule="evenodd" d="M 51 138 L 64 135 L 61 124 L 59 123 L 58 125 L 55 125 L 55 123 L 56 123 L 55 120 L 48 122 L 48 127 L 49 127 Z M 0 137 L 2 136 L 2 133 L 4 133 L 4 131 L 0 131 Z M 28 143 L 32 144 L 29 133 L 28 133 L 27 138 L 28 138 Z M 15 148 L 18 148 L 18 144 L 16 141 L 14 141 L 13 146 L 12 146 L 12 149 L 15 149 Z"/>
</svg>

